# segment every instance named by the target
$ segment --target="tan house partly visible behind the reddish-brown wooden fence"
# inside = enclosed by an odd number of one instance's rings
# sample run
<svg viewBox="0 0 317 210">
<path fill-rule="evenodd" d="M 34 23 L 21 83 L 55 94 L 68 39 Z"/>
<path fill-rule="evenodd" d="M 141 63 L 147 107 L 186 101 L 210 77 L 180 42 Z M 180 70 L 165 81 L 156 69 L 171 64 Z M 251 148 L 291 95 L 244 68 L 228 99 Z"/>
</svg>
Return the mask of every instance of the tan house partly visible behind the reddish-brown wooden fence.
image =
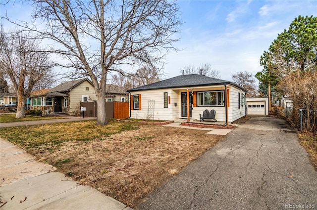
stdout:
<svg viewBox="0 0 317 210">
<path fill-rule="evenodd" d="M 129 93 L 115 84 L 106 84 L 106 101 L 129 101 Z"/>
</svg>

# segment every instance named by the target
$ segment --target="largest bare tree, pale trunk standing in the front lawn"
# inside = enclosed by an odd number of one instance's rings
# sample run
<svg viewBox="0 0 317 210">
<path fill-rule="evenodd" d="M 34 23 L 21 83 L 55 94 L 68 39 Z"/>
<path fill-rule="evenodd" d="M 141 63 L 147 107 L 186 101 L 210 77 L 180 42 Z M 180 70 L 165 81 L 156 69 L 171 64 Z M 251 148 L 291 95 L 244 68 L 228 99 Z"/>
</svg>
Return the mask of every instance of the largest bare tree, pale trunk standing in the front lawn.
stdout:
<svg viewBox="0 0 317 210">
<path fill-rule="evenodd" d="M 107 75 L 128 75 L 129 65 L 156 66 L 175 49 L 179 8 L 167 0 L 34 0 L 35 20 L 19 23 L 55 42 L 52 51 L 69 61 L 76 77 L 88 76 L 98 101 L 97 125 L 106 125 Z M 7 18 L 9 19 L 9 18 Z M 57 44 L 58 43 L 58 48 Z M 126 68 L 127 69 L 127 68 Z M 100 82 L 101 81 L 101 82 Z"/>
</svg>

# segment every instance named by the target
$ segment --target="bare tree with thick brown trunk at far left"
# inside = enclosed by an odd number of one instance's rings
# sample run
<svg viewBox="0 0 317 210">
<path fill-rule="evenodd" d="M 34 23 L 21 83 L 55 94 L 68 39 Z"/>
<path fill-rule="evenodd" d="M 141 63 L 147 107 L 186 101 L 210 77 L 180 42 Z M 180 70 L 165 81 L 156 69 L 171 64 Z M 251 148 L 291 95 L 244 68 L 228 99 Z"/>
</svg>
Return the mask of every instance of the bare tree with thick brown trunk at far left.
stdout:
<svg viewBox="0 0 317 210">
<path fill-rule="evenodd" d="M 16 118 L 24 118 L 25 101 L 34 85 L 51 77 L 53 63 L 49 54 L 43 52 L 39 42 L 21 32 L 0 31 L 0 69 L 7 75 L 17 93 Z"/>
</svg>

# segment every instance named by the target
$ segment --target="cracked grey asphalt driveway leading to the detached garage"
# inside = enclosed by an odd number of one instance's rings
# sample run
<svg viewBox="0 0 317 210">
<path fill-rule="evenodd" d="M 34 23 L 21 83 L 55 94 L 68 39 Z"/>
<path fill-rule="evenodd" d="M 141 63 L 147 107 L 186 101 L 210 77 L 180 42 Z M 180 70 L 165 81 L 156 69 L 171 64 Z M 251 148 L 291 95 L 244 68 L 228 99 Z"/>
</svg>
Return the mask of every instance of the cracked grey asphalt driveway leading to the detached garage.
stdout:
<svg viewBox="0 0 317 210">
<path fill-rule="evenodd" d="M 283 119 L 254 117 L 144 199 L 140 210 L 317 209 L 317 171 Z"/>
</svg>

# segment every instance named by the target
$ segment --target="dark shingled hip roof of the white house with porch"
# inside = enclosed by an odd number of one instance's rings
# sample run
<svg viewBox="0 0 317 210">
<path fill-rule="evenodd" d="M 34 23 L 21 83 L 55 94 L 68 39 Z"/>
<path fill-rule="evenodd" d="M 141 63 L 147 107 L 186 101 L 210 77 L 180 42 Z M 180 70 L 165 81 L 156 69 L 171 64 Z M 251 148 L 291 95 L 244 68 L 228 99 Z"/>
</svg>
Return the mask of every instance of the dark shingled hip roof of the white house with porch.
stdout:
<svg viewBox="0 0 317 210">
<path fill-rule="evenodd" d="M 166 89 L 166 88 L 176 88 L 176 87 L 192 87 L 192 86 L 208 86 L 208 85 L 217 85 L 217 84 L 231 84 L 238 88 L 241 88 L 245 91 L 243 87 L 238 84 L 234 84 L 229 81 L 215 79 L 211 77 L 207 77 L 205 75 L 180 75 L 177 77 L 173 77 L 167 80 L 162 80 L 157 83 L 147 84 L 144 86 L 136 87 L 133 89 L 127 90 L 128 92 L 138 91 L 138 90 L 151 90 L 151 89 Z"/>
</svg>

